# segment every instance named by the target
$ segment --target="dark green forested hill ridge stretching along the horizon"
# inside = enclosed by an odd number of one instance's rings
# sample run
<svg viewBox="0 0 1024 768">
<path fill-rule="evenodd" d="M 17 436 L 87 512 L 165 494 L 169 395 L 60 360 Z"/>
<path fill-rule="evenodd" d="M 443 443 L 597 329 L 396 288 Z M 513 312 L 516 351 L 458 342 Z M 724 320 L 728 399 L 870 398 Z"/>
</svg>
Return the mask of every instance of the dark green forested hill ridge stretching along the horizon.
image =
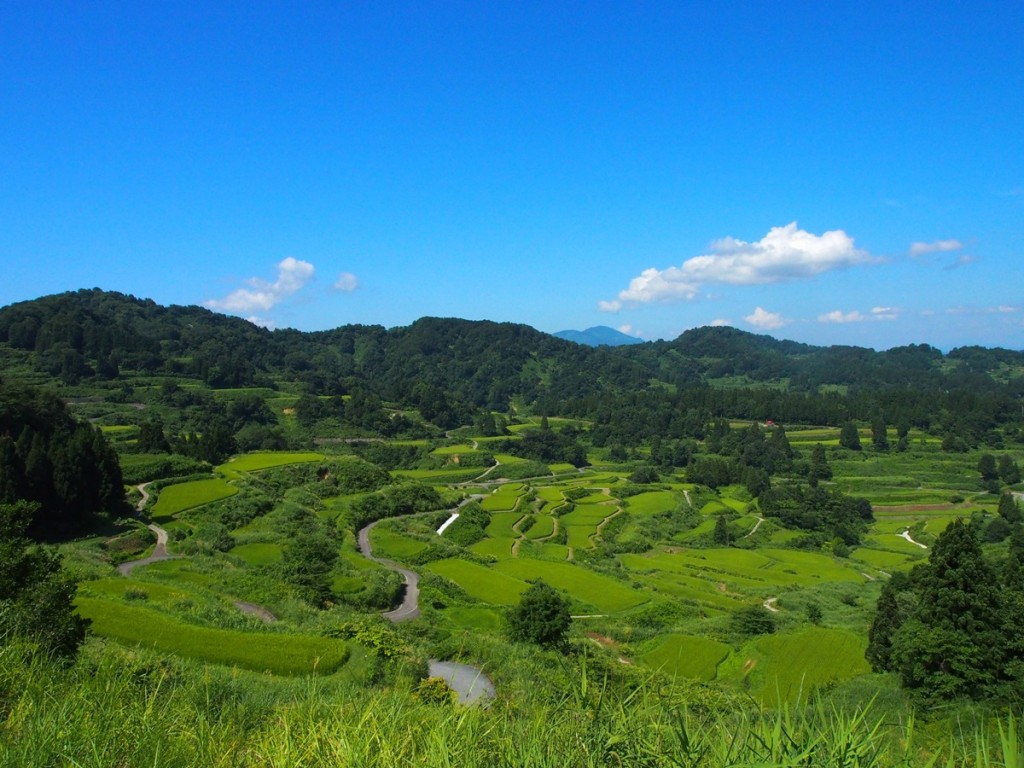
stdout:
<svg viewBox="0 0 1024 768">
<path fill-rule="evenodd" d="M 445 401 L 504 410 L 511 398 L 554 411 L 572 398 L 650 386 L 772 384 L 790 392 L 1024 392 L 1024 352 L 927 346 L 883 352 L 816 347 L 732 328 L 700 328 L 674 341 L 591 348 L 528 326 L 425 317 L 404 328 L 344 326 L 268 331 L 196 306 L 98 289 L 0 309 L 0 345 L 65 383 L 117 379 L 122 370 L 195 377 L 212 387 L 298 380 L 317 394 L 367 389 L 396 402 Z"/>
</svg>

